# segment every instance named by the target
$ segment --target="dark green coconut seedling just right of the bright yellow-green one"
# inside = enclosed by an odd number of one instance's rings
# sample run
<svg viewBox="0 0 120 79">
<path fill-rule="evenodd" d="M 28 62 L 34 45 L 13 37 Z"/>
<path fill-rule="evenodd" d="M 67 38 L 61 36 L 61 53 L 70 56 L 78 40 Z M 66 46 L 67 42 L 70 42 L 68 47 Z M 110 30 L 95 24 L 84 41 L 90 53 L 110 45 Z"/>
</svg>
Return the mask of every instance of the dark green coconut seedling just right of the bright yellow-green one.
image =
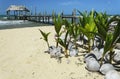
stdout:
<svg viewBox="0 0 120 79">
<path fill-rule="evenodd" d="M 103 43 L 106 39 L 106 35 L 107 35 L 107 32 L 109 30 L 109 25 L 110 23 L 113 21 L 113 19 L 111 18 L 109 20 L 109 16 L 105 13 L 96 13 L 96 17 L 94 19 L 95 21 L 95 24 L 97 26 L 97 33 L 96 35 L 98 35 L 100 37 L 100 45 L 99 45 L 99 48 L 102 48 L 103 47 Z"/>
</svg>

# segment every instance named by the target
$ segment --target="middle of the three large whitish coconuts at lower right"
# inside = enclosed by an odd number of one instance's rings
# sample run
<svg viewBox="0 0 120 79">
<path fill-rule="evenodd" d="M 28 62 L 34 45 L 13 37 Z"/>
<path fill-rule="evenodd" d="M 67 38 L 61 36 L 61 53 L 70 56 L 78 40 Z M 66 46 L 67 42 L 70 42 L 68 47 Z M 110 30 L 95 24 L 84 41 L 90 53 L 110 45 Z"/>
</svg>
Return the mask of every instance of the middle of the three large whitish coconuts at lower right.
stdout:
<svg viewBox="0 0 120 79">
<path fill-rule="evenodd" d="M 109 72 L 110 70 L 115 70 L 115 68 L 113 67 L 112 64 L 109 64 L 109 63 L 105 63 L 101 66 L 100 68 L 100 72 L 102 74 L 106 74 L 107 72 Z"/>
</svg>

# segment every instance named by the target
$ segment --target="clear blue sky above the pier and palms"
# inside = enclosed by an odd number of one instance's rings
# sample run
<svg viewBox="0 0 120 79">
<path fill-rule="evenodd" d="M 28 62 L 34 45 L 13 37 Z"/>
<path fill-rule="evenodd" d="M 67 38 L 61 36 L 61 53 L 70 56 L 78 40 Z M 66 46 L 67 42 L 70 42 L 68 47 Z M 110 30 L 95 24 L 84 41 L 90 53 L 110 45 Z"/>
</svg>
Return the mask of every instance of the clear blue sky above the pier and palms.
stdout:
<svg viewBox="0 0 120 79">
<path fill-rule="evenodd" d="M 90 11 L 92 9 L 99 12 L 106 11 L 108 14 L 120 14 L 120 0 L 0 0 L 0 14 L 5 14 L 9 5 L 25 5 L 34 12 L 57 13 L 62 11 L 65 14 L 71 14 L 76 8 L 80 11 Z"/>
</svg>

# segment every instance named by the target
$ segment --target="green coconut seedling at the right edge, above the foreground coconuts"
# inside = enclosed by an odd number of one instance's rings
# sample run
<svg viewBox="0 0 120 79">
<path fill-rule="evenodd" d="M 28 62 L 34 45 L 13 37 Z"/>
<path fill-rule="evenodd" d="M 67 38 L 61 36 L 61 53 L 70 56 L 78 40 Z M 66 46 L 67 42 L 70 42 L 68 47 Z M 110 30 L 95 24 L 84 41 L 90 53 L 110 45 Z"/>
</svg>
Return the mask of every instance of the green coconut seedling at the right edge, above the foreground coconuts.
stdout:
<svg viewBox="0 0 120 79">
<path fill-rule="evenodd" d="M 120 20 L 118 21 L 117 26 L 115 26 L 115 30 L 113 33 L 107 33 L 106 35 L 106 40 L 105 40 L 105 45 L 104 45 L 104 52 L 103 52 L 103 56 L 101 58 L 101 64 L 102 61 L 104 59 L 104 56 L 107 54 L 107 52 L 109 51 L 109 62 L 112 63 L 112 58 L 113 58 L 113 48 L 115 47 L 118 39 L 120 38 Z"/>
</svg>

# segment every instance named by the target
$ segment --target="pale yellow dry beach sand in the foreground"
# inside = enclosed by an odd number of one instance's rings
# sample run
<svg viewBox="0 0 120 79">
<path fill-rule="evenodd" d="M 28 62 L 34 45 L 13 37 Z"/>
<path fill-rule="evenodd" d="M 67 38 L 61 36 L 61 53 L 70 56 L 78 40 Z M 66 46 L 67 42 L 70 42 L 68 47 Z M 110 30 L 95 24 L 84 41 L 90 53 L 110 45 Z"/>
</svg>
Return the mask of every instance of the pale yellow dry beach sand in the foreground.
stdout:
<svg viewBox="0 0 120 79">
<path fill-rule="evenodd" d="M 52 32 L 49 42 L 55 45 L 53 26 L 0 30 L 0 79 L 104 79 L 85 69 L 78 60 L 82 56 L 62 58 L 62 63 L 50 58 L 38 29 Z"/>
</svg>

